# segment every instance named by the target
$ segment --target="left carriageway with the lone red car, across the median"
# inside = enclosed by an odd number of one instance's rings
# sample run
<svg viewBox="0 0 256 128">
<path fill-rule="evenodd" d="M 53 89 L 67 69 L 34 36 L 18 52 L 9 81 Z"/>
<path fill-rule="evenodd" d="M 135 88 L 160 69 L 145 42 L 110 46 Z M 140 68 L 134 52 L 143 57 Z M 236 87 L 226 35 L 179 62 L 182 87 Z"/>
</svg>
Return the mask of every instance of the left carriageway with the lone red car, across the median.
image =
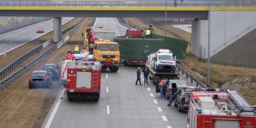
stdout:
<svg viewBox="0 0 256 128">
<path fill-rule="evenodd" d="M 67 21 L 70 21 L 71 17 L 62 19 L 62 25 Z M 36 33 L 37 28 L 44 28 L 44 33 Z M 24 28 L 20 28 L 15 31 L 4 33 L 0 35 L 0 54 L 5 51 L 11 50 L 17 46 L 25 44 L 34 40 L 53 30 L 52 19 L 48 21 L 39 22 L 34 25 L 30 25 Z"/>
</svg>

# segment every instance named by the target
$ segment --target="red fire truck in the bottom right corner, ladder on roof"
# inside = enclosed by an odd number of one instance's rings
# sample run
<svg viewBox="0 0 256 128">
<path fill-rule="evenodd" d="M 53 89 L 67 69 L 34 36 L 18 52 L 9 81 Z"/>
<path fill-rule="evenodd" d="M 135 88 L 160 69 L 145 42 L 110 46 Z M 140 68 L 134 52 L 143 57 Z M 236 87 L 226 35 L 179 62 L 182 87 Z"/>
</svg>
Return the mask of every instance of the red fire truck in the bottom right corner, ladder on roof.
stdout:
<svg viewBox="0 0 256 128">
<path fill-rule="evenodd" d="M 237 91 L 191 91 L 187 128 L 255 128 L 255 108 Z"/>
</svg>

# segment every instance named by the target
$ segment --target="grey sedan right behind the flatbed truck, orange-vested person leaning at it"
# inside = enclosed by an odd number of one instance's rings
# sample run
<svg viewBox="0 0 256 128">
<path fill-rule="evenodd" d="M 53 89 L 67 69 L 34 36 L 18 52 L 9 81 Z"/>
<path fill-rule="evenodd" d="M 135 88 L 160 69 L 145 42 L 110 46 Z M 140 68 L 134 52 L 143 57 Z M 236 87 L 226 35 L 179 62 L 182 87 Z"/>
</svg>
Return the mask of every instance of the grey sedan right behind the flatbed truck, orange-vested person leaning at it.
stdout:
<svg viewBox="0 0 256 128">
<path fill-rule="evenodd" d="M 172 93 L 172 83 L 176 83 L 177 91 L 181 90 L 182 87 L 188 86 L 185 80 L 168 80 L 164 89 L 166 99 L 169 99 L 169 96 Z"/>
</svg>

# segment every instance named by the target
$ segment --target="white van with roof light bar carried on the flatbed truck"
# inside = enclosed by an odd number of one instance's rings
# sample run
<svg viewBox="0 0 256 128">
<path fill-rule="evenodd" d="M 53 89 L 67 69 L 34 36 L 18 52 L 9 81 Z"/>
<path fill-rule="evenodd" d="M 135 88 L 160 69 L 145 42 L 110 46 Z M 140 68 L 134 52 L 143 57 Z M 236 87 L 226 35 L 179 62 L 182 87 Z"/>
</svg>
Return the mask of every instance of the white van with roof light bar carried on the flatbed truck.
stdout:
<svg viewBox="0 0 256 128">
<path fill-rule="evenodd" d="M 175 72 L 176 56 L 172 56 L 172 51 L 168 49 L 159 49 L 152 57 L 153 68 L 156 71 L 172 71 Z"/>
</svg>

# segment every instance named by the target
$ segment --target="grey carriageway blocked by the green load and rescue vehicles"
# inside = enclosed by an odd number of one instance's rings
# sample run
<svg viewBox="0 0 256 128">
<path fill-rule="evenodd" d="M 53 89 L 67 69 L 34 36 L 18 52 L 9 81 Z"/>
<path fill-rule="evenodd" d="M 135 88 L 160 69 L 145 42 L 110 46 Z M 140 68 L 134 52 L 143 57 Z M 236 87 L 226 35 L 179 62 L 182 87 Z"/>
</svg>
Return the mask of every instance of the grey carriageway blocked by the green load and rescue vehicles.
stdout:
<svg viewBox="0 0 256 128">
<path fill-rule="evenodd" d="M 125 29 L 116 18 L 97 18 L 94 26 L 109 28 L 117 36 Z M 62 88 L 42 128 L 186 127 L 187 113 L 178 112 L 174 105 L 166 106 L 168 100 L 155 93 L 155 85 L 151 80 L 149 86 L 135 85 L 135 81 L 136 67 L 120 66 L 117 73 L 102 70 L 99 102 L 84 97 L 70 102 Z M 60 99 L 63 93 L 63 99 Z"/>
</svg>

